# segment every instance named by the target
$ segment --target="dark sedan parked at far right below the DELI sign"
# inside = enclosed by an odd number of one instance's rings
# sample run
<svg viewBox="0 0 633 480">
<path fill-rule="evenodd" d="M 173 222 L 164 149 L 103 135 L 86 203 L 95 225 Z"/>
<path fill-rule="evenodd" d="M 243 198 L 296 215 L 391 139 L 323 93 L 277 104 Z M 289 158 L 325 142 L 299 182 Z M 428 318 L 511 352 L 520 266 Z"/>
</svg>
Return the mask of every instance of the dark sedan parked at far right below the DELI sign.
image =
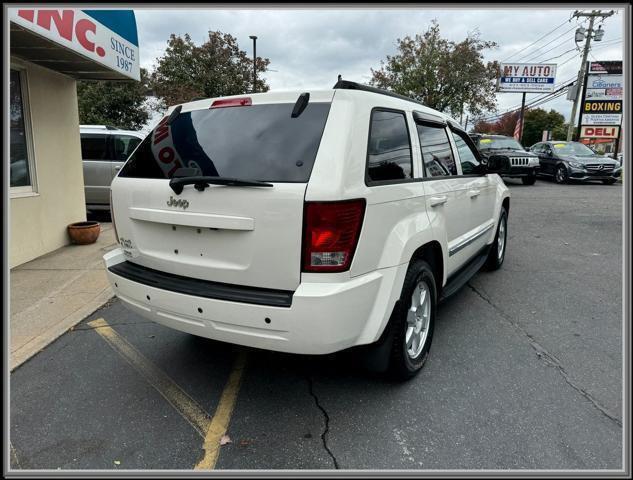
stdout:
<svg viewBox="0 0 633 480">
<path fill-rule="evenodd" d="M 539 174 L 553 177 L 557 183 L 601 180 L 605 185 L 611 185 L 622 175 L 617 160 L 600 155 L 579 142 L 540 142 L 532 145 L 530 151 L 539 157 Z"/>
</svg>

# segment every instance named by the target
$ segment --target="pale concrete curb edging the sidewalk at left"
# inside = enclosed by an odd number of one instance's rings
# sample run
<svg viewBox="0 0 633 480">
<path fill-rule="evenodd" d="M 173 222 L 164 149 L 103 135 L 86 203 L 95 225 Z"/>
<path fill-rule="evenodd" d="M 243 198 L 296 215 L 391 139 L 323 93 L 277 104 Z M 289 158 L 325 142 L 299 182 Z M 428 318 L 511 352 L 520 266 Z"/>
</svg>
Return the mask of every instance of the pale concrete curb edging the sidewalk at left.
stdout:
<svg viewBox="0 0 633 480">
<path fill-rule="evenodd" d="M 105 305 L 108 300 L 114 297 L 114 292 L 108 285 L 101 290 L 92 300 L 75 310 L 70 315 L 64 317 L 59 323 L 46 329 L 44 332 L 29 340 L 26 344 L 11 352 L 11 371 L 26 362 L 29 358 L 42 351 L 46 346 L 59 338 L 70 328 L 77 325 L 84 318 L 88 317 L 96 310 Z"/>
</svg>

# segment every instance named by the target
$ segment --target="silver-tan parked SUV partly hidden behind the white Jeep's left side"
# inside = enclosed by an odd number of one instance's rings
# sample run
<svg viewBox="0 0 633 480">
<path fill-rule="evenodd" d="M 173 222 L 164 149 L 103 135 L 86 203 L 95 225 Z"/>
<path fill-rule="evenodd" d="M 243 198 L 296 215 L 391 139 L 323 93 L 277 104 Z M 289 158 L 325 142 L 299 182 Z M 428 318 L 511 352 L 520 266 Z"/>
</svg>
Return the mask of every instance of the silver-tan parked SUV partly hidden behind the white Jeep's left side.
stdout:
<svg viewBox="0 0 633 480">
<path fill-rule="evenodd" d="M 144 135 L 105 125 L 80 125 L 88 210 L 110 209 L 110 184 Z"/>
</svg>

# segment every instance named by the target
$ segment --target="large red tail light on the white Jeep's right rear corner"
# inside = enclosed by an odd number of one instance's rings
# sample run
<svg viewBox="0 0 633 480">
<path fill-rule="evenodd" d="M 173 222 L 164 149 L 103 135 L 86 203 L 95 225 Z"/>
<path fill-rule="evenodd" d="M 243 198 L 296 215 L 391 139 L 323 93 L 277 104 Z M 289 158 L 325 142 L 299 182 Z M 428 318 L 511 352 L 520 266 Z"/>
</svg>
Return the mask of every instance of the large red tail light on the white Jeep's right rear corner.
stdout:
<svg viewBox="0 0 633 480">
<path fill-rule="evenodd" d="M 348 270 L 364 214 L 364 199 L 306 202 L 303 216 L 303 271 Z"/>
</svg>

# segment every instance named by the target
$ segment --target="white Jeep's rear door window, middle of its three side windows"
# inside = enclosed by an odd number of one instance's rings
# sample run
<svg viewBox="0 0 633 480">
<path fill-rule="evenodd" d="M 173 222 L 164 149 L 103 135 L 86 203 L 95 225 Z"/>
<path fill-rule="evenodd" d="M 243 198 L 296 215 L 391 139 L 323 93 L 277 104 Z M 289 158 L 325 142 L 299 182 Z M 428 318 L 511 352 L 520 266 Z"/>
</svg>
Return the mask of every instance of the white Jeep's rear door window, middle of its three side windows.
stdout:
<svg viewBox="0 0 633 480">
<path fill-rule="evenodd" d="M 417 124 L 422 161 L 429 177 L 447 177 L 457 175 L 457 165 L 453 158 L 451 144 L 446 135 L 446 128 Z"/>
</svg>

